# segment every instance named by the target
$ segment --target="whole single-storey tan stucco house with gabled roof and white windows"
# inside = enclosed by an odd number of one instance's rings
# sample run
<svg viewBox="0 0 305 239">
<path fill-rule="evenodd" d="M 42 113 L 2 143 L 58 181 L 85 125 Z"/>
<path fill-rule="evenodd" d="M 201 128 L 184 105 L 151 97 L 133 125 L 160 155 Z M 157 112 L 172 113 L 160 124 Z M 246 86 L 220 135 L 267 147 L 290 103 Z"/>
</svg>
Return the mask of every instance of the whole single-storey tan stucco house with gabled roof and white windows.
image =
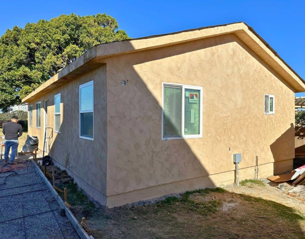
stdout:
<svg viewBox="0 0 305 239">
<path fill-rule="evenodd" d="M 22 102 L 28 134 L 102 205 L 292 170 L 304 80 L 248 25 L 92 47 Z M 53 131 L 53 134 L 51 134 Z"/>
</svg>

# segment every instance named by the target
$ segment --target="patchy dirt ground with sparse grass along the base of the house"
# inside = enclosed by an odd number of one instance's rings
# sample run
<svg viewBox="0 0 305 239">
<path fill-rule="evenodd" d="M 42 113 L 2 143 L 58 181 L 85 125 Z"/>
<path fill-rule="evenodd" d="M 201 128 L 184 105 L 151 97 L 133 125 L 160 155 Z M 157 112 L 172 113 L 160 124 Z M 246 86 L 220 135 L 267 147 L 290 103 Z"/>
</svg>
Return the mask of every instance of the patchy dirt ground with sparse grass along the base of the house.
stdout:
<svg viewBox="0 0 305 239">
<path fill-rule="evenodd" d="M 86 217 L 95 239 L 305 238 L 305 198 L 289 196 L 294 186 L 287 183 L 281 191 L 278 183 L 267 179 L 244 181 L 240 187 L 227 185 L 154 204 L 106 209 L 92 202 L 65 171 L 55 167 L 55 178 L 56 186 L 68 188 L 71 211 L 79 221 Z"/>
</svg>

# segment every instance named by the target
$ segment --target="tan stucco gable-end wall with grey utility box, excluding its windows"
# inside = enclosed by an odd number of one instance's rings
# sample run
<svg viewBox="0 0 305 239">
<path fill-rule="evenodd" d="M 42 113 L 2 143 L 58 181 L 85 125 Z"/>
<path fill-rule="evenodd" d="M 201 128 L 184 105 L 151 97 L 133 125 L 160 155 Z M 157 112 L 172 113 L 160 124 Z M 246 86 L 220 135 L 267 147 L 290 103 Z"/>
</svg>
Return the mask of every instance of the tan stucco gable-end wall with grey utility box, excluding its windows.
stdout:
<svg viewBox="0 0 305 239">
<path fill-rule="evenodd" d="M 260 177 L 292 168 L 294 89 L 234 34 L 105 62 L 107 206 L 234 182 L 233 153 L 241 179 L 256 156 Z M 162 82 L 203 86 L 203 138 L 161 140 Z"/>
</svg>

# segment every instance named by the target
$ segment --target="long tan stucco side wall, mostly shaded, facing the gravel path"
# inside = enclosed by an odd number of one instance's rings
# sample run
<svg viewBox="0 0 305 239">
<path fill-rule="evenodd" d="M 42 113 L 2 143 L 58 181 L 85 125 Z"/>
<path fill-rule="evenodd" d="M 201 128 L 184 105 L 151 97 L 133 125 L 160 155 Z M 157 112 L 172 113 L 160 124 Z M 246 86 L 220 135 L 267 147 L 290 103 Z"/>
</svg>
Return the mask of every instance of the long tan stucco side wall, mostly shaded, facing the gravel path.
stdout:
<svg viewBox="0 0 305 239">
<path fill-rule="evenodd" d="M 79 86 L 94 81 L 94 141 L 79 138 Z M 48 100 L 48 127 L 54 129 L 54 95 L 61 93 L 61 133 L 53 132 L 49 154 L 55 164 L 67 169 L 74 180 L 101 203 L 106 195 L 106 66 L 99 67 L 80 76 L 59 89 L 52 90 L 33 104 L 33 127 L 28 134 L 39 138 L 39 149 L 43 149 L 44 103 Z M 35 103 L 41 101 L 41 129 L 35 127 Z M 51 131 L 48 129 L 48 133 Z M 71 166 L 67 168 L 67 166 Z"/>
</svg>

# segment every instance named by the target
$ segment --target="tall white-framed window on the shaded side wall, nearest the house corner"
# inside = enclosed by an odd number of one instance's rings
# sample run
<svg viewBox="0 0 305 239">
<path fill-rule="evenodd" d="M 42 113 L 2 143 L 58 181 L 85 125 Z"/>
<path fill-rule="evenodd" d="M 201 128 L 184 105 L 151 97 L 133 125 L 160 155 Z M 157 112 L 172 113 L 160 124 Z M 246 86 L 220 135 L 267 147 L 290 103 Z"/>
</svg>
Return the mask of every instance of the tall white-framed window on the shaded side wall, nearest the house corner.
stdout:
<svg viewBox="0 0 305 239">
<path fill-rule="evenodd" d="M 93 81 L 79 87 L 80 138 L 93 140 Z"/>
</svg>

